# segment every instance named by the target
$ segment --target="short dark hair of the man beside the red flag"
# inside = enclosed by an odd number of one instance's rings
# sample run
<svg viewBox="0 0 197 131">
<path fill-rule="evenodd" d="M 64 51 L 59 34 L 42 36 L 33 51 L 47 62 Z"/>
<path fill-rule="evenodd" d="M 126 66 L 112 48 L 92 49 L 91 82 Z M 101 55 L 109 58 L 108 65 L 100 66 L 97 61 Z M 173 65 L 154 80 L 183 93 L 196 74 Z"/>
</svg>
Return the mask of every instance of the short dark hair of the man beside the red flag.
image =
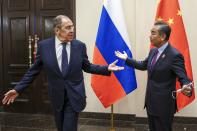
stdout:
<svg viewBox="0 0 197 131">
<path fill-rule="evenodd" d="M 159 26 L 159 31 L 166 35 L 165 40 L 168 41 L 171 33 L 171 27 L 168 25 L 168 23 L 159 20 L 159 21 L 155 21 L 154 25 Z"/>
</svg>

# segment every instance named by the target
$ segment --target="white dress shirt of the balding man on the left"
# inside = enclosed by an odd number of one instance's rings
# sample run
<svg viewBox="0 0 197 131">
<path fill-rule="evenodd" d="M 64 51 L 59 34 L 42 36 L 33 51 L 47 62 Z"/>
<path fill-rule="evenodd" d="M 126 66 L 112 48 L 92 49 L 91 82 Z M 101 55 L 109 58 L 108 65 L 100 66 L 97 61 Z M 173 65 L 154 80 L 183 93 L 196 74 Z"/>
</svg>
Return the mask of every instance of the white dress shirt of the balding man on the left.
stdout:
<svg viewBox="0 0 197 131">
<path fill-rule="evenodd" d="M 68 56 L 68 64 L 70 62 L 70 42 L 67 42 L 66 44 L 66 51 L 67 51 L 67 56 Z M 56 52 L 56 58 L 57 58 L 57 62 L 58 62 L 58 66 L 60 68 L 60 70 L 62 71 L 62 49 L 63 49 L 63 45 L 62 42 L 57 38 L 57 36 L 55 37 L 55 52 Z"/>
</svg>

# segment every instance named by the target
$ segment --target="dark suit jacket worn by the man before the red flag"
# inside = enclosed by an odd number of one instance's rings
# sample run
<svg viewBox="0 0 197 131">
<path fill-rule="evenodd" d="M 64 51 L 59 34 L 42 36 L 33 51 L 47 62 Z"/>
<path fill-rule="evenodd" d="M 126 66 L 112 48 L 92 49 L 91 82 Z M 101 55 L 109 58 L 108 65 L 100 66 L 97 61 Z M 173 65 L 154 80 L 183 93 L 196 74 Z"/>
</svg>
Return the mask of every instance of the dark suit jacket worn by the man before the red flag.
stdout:
<svg viewBox="0 0 197 131">
<path fill-rule="evenodd" d="M 176 112 L 176 100 L 172 98 L 172 91 L 176 89 L 176 79 L 181 85 L 188 84 L 184 58 L 170 44 L 158 58 L 153 69 L 150 70 L 151 61 L 156 49 L 150 50 L 144 61 L 127 59 L 126 64 L 139 70 L 148 71 L 145 107 L 151 115 L 165 116 Z"/>
</svg>

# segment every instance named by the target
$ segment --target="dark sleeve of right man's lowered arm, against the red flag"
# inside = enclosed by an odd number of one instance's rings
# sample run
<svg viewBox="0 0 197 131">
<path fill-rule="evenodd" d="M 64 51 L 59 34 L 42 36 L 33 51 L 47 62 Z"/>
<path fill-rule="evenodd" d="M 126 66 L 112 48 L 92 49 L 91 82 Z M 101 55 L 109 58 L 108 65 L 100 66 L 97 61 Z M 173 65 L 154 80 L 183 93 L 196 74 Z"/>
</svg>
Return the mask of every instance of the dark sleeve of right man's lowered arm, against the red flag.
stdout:
<svg viewBox="0 0 197 131">
<path fill-rule="evenodd" d="M 181 54 L 176 55 L 176 57 L 174 58 L 172 70 L 178 77 L 178 81 L 181 83 L 181 86 L 184 84 L 189 84 L 191 82 L 187 77 L 184 58 Z"/>
</svg>

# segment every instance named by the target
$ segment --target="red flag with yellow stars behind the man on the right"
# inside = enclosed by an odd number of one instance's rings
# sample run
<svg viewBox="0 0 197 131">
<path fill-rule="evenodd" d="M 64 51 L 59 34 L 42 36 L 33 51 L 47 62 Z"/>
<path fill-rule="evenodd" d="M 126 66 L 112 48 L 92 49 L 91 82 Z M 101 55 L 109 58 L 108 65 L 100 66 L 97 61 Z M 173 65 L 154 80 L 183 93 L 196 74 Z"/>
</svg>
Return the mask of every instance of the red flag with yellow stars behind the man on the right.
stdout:
<svg viewBox="0 0 197 131">
<path fill-rule="evenodd" d="M 189 46 L 178 0 L 160 0 L 157 8 L 156 19 L 166 21 L 171 26 L 172 32 L 169 41 L 173 47 L 183 54 L 187 75 L 193 81 Z M 178 90 L 179 88 L 180 85 L 177 82 L 176 89 Z M 177 93 L 178 111 L 191 103 L 194 98 L 194 90 L 192 91 L 191 97 L 187 97 L 182 93 Z"/>
</svg>

